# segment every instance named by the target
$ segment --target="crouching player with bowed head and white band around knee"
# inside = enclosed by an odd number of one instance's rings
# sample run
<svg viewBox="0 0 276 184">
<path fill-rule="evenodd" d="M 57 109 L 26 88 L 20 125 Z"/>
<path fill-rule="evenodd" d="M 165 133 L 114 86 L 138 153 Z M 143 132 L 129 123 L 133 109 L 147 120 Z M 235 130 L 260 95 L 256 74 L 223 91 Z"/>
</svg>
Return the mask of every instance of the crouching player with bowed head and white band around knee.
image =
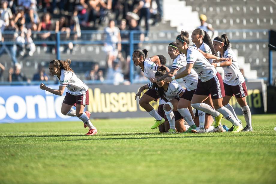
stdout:
<svg viewBox="0 0 276 184">
<path fill-rule="evenodd" d="M 163 76 L 166 73 L 167 71 L 157 71 L 155 73 L 155 77 Z M 162 113 L 162 111 L 164 111 L 165 116 L 169 121 L 169 124 L 170 124 L 170 129 L 168 130 L 169 134 L 176 133 L 176 126 L 179 132 L 183 132 L 187 130 L 186 128 L 187 126 L 184 125 L 184 122 L 179 121 L 182 119 L 182 117 L 180 116 L 179 112 L 176 111 L 176 107 L 177 107 L 180 95 L 183 95 L 184 92 L 182 87 L 175 80 L 169 84 L 165 83 L 164 80 L 159 81 L 157 83 L 151 82 L 148 85 L 142 86 L 139 92 L 137 93 L 136 97 L 141 95 L 141 92 L 144 89 L 156 90 L 158 92 L 158 96 L 160 97 L 160 99 L 163 99 L 166 102 L 165 104 L 160 105 L 158 107 L 158 110 L 159 110 L 159 113 Z M 162 106 L 163 106 L 163 110 L 160 110 Z M 177 124 L 175 120 L 178 121 Z"/>
</svg>

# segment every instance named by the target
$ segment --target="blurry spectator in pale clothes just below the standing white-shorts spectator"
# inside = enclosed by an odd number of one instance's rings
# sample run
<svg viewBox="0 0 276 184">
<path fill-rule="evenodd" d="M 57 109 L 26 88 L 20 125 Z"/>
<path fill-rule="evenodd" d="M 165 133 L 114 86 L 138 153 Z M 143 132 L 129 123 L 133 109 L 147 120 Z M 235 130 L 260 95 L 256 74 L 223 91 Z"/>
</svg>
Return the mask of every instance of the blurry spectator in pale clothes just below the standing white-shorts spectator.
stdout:
<svg viewBox="0 0 276 184">
<path fill-rule="evenodd" d="M 121 72 L 118 62 L 113 63 L 112 68 L 108 68 L 107 80 L 112 80 L 114 85 L 119 85 L 124 82 L 124 75 Z"/>
</svg>

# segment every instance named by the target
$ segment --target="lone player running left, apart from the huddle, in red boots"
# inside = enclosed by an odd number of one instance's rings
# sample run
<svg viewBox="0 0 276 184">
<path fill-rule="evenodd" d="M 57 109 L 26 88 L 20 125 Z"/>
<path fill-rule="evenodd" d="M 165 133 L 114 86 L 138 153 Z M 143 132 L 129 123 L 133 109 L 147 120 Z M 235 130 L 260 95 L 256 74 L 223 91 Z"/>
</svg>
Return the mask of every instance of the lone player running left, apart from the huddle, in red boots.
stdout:
<svg viewBox="0 0 276 184">
<path fill-rule="evenodd" d="M 90 113 L 83 113 L 85 105 L 89 104 L 88 86 L 85 85 L 70 68 L 71 60 L 66 61 L 54 59 L 49 63 L 50 74 L 60 81 L 59 89 L 48 88 L 41 83 L 40 88 L 55 95 L 62 95 L 65 87 L 67 92 L 64 97 L 61 113 L 67 116 L 77 116 L 84 123 L 84 127 L 88 126 L 89 131 L 86 135 L 97 134 L 97 129 L 89 120 Z M 72 109 L 73 105 L 76 110 Z"/>
</svg>

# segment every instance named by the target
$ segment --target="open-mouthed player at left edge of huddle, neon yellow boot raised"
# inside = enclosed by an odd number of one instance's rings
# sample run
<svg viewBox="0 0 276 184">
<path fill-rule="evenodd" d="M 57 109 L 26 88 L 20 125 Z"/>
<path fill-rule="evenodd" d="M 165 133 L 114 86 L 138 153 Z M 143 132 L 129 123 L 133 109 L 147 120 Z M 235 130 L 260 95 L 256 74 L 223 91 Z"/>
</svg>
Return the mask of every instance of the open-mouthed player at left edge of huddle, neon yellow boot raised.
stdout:
<svg viewBox="0 0 276 184">
<path fill-rule="evenodd" d="M 154 77 L 156 71 L 158 71 L 160 67 L 164 67 L 164 68 L 166 67 L 161 65 L 159 56 L 153 56 L 151 58 L 147 58 L 147 57 L 148 57 L 148 51 L 146 49 L 135 50 L 132 54 L 132 60 L 134 62 L 134 65 L 139 66 L 144 72 L 145 77 L 149 79 L 151 77 Z M 152 61 L 155 61 L 155 63 Z M 164 62 L 162 64 L 165 64 L 166 63 L 165 57 L 163 58 L 163 61 Z M 139 100 L 140 106 L 143 107 L 152 117 L 156 119 L 155 124 L 151 127 L 152 129 L 157 128 L 159 125 L 162 125 L 165 122 L 164 118 L 162 118 L 156 112 L 156 110 L 149 104 L 149 102 L 153 100 L 157 101 L 158 98 L 159 96 L 156 93 L 156 91 L 154 89 L 149 89 Z"/>
</svg>

